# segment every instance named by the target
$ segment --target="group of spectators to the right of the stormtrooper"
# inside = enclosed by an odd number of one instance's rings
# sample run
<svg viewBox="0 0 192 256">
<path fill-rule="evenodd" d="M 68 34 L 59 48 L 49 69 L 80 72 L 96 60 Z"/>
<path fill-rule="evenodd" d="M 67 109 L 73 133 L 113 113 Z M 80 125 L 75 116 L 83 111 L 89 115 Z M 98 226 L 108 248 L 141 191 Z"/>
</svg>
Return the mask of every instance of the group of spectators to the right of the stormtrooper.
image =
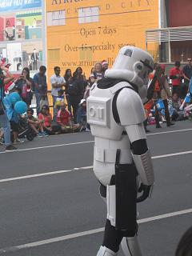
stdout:
<svg viewBox="0 0 192 256">
<path fill-rule="evenodd" d="M 149 74 L 148 99 L 144 108 L 146 110 L 147 124 L 161 124 L 173 126 L 174 121 L 190 118 L 190 105 L 192 94 L 192 62 L 187 59 L 186 66 L 181 69 L 181 63 L 175 62 L 174 67 L 166 74 L 165 65 L 154 64 L 154 70 Z M 171 85 L 171 86 L 170 86 Z M 187 96 L 186 96 L 187 95 Z M 188 98 L 187 98 L 188 97 Z M 146 131 L 148 131 L 146 129 Z"/>
</svg>

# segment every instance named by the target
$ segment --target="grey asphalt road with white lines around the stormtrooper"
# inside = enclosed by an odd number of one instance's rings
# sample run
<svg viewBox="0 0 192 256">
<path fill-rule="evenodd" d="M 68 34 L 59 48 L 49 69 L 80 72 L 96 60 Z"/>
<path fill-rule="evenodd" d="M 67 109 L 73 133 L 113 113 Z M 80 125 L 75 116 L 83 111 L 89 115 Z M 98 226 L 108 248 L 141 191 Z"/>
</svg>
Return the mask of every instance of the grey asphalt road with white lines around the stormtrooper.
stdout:
<svg viewBox="0 0 192 256">
<path fill-rule="evenodd" d="M 192 125 L 149 129 L 156 182 L 138 205 L 139 240 L 144 256 L 170 256 L 192 222 Z M 90 133 L 80 133 L 34 139 L 14 153 L 0 147 L 0 254 L 97 254 L 106 206 L 91 170 L 93 145 Z"/>
</svg>

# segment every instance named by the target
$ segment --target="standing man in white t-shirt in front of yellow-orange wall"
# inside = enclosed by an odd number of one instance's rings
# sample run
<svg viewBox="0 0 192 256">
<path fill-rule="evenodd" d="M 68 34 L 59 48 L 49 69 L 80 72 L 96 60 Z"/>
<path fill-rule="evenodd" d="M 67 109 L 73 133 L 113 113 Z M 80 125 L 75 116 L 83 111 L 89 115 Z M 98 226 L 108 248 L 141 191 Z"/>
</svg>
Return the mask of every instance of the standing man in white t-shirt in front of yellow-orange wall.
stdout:
<svg viewBox="0 0 192 256">
<path fill-rule="evenodd" d="M 50 77 L 50 84 L 51 84 L 51 95 L 53 98 L 53 106 L 55 106 L 56 99 L 58 98 L 58 90 L 62 90 L 62 87 L 65 86 L 66 81 L 63 77 L 60 76 L 60 67 L 55 66 L 54 67 L 54 74 Z M 54 115 L 56 113 L 55 107 L 54 107 Z"/>
</svg>

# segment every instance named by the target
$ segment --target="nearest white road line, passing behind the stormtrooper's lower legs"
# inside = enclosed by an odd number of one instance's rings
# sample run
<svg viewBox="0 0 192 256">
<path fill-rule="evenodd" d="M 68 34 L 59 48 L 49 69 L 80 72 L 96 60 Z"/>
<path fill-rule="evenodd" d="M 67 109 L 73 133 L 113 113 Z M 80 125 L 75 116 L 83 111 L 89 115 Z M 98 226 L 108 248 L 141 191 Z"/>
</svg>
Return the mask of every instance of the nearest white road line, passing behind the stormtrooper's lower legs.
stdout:
<svg viewBox="0 0 192 256">
<path fill-rule="evenodd" d="M 142 223 L 146 223 L 146 222 L 154 222 L 154 221 L 158 221 L 158 220 L 164 219 L 164 218 L 171 218 L 174 216 L 179 216 L 179 215 L 183 215 L 183 214 L 191 214 L 191 213 L 192 213 L 192 209 L 179 210 L 179 211 L 172 212 L 169 214 L 161 214 L 161 215 L 150 217 L 150 218 L 142 218 L 142 219 L 138 220 L 138 223 L 142 224 Z M 75 233 L 75 234 L 67 234 L 67 235 L 63 235 L 58 238 L 50 238 L 50 239 L 46 239 L 46 240 L 42 240 L 42 241 L 38 241 L 38 242 L 30 242 L 30 243 L 26 243 L 26 244 L 20 245 L 20 246 L 13 246 L 13 247 L 5 248 L 5 249 L 0 249 L 0 254 L 14 252 L 17 250 L 27 249 L 27 248 L 37 247 L 37 246 L 44 246 L 46 244 L 50 244 L 53 242 L 62 242 L 65 240 L 79 238 L 79 237 L 90 235 L 90 234 L 98 234 L 103 231 L 104 231 L 104 227 L 95 229 L 95 230 L 87 230 L 87 231 L 79 232 L 79 233 Z"/>
</svg>

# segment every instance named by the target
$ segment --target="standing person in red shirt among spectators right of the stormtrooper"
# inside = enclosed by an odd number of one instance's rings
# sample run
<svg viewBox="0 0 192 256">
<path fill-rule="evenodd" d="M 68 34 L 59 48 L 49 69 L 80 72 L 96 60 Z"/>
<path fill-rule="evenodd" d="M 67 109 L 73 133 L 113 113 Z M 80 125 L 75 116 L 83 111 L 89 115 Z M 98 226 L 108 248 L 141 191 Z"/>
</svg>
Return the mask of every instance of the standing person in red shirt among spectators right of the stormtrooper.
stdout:
<svg viewBox="0 0 192 256">
<path fill-rule="evenodd" d="M 170 79 L 172 80 L 172 94 L 178 94 L 178 97 L 181 95 L 181 83 L 183 78 L 183 72 L 180 70 L 180 62 L 174 63 L 174 68 L 170 70 Z"/>
</svg>

